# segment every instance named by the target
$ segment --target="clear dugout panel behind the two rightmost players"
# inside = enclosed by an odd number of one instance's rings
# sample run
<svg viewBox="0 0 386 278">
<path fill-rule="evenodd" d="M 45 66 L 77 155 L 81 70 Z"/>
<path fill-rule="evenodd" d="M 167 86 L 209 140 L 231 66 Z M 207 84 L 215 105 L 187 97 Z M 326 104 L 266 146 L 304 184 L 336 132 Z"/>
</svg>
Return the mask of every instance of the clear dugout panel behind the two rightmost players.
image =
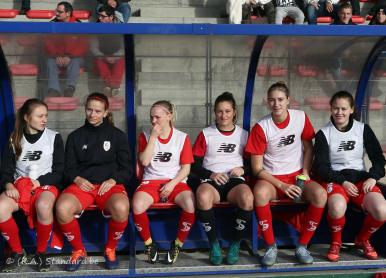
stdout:
<svg viewBox="0 0 386 278">
<path fill-rule="evenodd" d="M 257 69 L 252 123 L 269 113 L 268 87 L 284 81 L 292 107 L 304 110 L 315 130 L 329 120 L 329 99 L 339 90 L 355 95 L 362 67 L 378 38 L 271 37 Z"/>
</svg>

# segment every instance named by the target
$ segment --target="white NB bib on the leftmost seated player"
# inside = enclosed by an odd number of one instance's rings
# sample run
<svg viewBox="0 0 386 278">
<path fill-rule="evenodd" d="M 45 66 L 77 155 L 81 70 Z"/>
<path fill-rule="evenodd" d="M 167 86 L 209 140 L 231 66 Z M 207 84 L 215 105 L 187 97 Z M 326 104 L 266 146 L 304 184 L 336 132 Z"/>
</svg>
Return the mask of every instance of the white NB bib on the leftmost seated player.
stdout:
<svg viewBox="0 0 386 278">
<path fill-rule="evenodd" d="M 37 179 L 52 172 L 54 143 L 57 132 L 46 128 L 39 140 L 30 144 L 25 137 L 21 139 L 22 152 L 16 161 L 14 178 L 30 177 Z"/>
</svg>

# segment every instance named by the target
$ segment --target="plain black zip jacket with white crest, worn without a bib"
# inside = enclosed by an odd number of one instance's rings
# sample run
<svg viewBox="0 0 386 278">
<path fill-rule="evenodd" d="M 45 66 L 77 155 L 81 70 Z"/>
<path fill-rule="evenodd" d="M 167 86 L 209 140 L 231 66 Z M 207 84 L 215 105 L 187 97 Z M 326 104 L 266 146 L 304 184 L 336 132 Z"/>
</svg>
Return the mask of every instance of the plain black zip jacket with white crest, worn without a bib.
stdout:
<svg viewBox="0 0 386 278">
<path fill-rule="evenodd" d="M 80 176 L 93 184 L 113 178 L 118 184 L 128 186 L 133 168 L 127 135 L 106 119 L 97 127 L 86 120 L 84 126 L 67 138 L 64 174 L 67 184 Z"/>
</svg>

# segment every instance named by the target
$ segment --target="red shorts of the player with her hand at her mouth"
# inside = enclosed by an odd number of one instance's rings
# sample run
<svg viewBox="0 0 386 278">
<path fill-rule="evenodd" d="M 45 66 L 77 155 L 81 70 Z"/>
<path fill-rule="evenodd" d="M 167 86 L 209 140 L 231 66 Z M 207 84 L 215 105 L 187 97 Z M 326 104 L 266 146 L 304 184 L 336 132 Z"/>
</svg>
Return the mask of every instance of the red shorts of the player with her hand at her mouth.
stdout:
<svg viewBox="0 0 386 278">
<path fill-rule="evenodd" d="M 141 182 L 141 184 L 137 187 L 135 192 L 140 192 L 140 191 L 146 192 L 153 198 L 154 203 L 158 203 L 160 200 L 160 196 L 159 196 L 160 189 L 168 181 L 169 180 L 145 180 Z M 170 193 L 167 199 L 167 202 L 173 203 L 176 196 L 183 191 L 192 191 L 192 190 L 186 183 L 180 182 L 174 187 L 172 193 Z"/>
</svg>

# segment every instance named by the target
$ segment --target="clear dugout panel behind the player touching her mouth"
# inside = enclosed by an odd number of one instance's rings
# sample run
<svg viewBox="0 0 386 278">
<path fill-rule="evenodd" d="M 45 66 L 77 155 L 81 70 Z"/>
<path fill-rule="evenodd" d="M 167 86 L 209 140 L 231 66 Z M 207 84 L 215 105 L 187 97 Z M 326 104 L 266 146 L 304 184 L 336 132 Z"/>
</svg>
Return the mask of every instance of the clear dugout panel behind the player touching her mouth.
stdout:
<svg viewBox="0 0 386 278">
<path fill-rule="evenodd" d="M 176 105 L 177 128 L 193 141 L 206 122 L 207 38 L 135 36 L 137 135 L 157 100 Z"/>
</svg>

